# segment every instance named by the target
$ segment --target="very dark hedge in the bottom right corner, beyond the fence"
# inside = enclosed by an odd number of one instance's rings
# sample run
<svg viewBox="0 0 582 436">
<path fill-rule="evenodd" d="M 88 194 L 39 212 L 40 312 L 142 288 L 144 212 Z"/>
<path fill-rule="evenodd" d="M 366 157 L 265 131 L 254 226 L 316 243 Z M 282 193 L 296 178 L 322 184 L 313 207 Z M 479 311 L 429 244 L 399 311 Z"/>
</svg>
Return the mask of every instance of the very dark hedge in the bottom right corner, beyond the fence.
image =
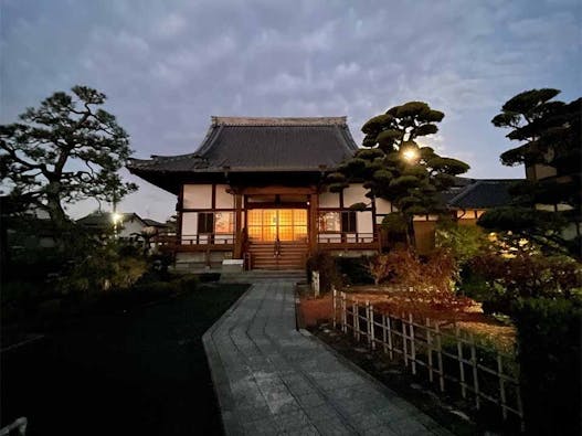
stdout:
<svg viewBox="0 0 582 436">
<path fill-rule="evenodd" d="M 526 430 L 580 435 L 580 300 L 528 298 L 515 305 Z"/>
</svg>

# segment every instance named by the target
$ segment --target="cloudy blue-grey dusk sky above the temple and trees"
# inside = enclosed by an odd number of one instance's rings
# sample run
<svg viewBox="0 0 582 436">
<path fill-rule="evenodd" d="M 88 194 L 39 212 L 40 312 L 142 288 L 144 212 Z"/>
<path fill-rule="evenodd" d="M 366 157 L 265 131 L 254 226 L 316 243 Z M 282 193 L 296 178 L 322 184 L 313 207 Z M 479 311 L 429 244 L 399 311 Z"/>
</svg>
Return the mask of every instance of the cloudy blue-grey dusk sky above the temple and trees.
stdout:
<svg viewBox="0 0 582 436">
<path fill-rule="evenodd" d="M 499 163 L 510 143 L 490 119 L 521 91 L 582 95 L 582 0 L 0 0 L 0 123 L 88 85 L 138 158 L 193 151 L 211 115 L 347 115 L 359 142 L 371 116 L 424 100 L 446 114 L 426 142 L 469 177 L 522 177 Z M 171 194 L 125 174 L 140 190 L 120 209 L 172 213 Z"/>
</svg>

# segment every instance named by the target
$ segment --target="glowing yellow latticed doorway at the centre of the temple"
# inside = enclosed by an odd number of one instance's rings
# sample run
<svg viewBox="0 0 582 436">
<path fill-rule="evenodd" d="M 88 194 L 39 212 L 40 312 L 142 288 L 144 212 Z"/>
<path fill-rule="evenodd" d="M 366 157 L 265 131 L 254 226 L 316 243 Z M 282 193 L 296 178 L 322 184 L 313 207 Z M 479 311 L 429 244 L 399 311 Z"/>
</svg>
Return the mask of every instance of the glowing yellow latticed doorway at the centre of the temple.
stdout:
<svg viewBox="0 0 582 436">
<path fill-rule="evenodd" d="M 246 225 L 252 242 L 307 241 L 305 209 L 251 209 Z"/>
</svg>

